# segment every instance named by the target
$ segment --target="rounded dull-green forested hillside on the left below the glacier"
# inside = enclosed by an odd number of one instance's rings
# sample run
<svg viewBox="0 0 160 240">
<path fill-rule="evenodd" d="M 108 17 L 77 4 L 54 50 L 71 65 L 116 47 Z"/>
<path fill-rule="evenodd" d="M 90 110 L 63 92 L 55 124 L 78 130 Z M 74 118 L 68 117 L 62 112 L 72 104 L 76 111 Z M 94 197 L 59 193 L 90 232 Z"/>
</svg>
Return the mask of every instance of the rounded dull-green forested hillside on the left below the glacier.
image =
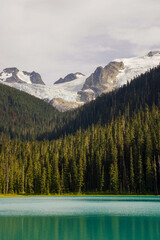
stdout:
<svg viewBox="0 0 160 240">
<path fill-rule="evenodd" d="M 60 126 L 60 115 L 44 101 L 0 84 L 0 139 L 35 139 Z"/>
</svg>

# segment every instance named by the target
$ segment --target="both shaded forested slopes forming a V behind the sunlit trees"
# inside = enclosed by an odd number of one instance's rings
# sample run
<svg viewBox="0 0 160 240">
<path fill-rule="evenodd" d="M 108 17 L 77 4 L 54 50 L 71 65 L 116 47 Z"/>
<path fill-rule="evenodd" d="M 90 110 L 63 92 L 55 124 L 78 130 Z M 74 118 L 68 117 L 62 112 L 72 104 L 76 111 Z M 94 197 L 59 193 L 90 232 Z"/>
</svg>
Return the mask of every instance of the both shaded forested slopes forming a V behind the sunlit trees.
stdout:
<svg viewBox="0 0 160 240">
<path fill-rule="evenodd" d="M 44 101 L 0 84 L 0 139 L 58 139 L 65 134 L 105 125 L 119 114 L 132 117 L 145 104 L 160 108 L 160 66 L 151 69 L 125 86 L 103 94 L 81 108 L 60 113 Z"/>
</svg>

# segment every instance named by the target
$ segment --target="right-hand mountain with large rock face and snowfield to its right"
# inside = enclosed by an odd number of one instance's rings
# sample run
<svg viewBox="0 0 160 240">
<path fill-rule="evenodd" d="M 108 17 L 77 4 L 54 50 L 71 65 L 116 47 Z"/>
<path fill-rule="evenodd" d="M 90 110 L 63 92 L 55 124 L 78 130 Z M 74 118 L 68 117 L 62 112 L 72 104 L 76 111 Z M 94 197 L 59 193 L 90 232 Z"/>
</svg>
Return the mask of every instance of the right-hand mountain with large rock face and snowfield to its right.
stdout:
<svg viewBox="0 0 160 240">
<path fill-rule="evenodd" d="M 110 92 L 149 71 L 160 64 L 160 51 L 151 51 L 143 57 L 121 58 L 108 65 L 98 67 L 85 81 L 79 92 L 80 100 L 95 99 L 102 93 Z M 92 92 L 92 96 L 91 96 Z"/>
</svg>

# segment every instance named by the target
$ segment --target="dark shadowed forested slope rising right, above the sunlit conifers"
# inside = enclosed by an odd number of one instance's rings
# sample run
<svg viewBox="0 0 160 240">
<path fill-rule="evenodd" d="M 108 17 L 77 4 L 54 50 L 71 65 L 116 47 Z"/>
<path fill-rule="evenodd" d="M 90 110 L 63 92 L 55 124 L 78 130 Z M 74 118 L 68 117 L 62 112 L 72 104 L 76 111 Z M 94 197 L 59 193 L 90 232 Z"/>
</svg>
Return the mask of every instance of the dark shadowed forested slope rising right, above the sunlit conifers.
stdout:
<svg viewBox="0 0 160 240">
<path fill-rule="evenodd" d="M 107 124 L 119 114 L 131 117 L 134 112 L 153 104 L 160 108 L 160 66 L 142 74 L 127 85 L 99 96 L 68 114 L 68 123 L 60 135 L 86 129 L 92 124 Z"/>
</svg>

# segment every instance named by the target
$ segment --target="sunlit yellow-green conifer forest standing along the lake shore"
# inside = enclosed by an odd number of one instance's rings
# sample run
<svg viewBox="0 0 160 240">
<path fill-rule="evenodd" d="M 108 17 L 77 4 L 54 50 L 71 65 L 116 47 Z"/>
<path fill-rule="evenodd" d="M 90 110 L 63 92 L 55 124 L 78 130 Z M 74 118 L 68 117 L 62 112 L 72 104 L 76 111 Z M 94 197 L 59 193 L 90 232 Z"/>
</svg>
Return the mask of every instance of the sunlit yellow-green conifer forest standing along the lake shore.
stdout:
<svg viewBox="0 0 160 240">
<path fill-rule="evenodd" d="M 1 193 L 159 193 L 160 110 L 54 141 L 1 143 Z"/>
</svg>

